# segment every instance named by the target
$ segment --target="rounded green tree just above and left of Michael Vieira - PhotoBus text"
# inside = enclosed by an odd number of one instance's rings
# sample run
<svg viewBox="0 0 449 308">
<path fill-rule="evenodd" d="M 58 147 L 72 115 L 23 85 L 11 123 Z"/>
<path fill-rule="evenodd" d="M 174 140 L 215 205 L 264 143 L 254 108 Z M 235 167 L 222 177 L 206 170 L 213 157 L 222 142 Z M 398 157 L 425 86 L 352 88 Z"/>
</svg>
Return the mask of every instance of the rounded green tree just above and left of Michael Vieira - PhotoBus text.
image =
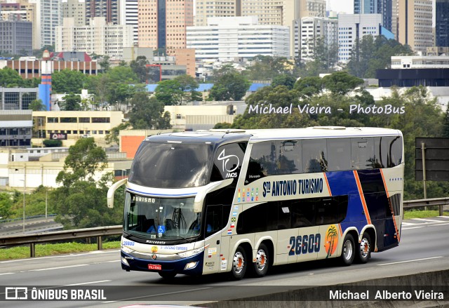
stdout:
<svg viewBox="0 0 449 308">
<path fill-rule="evenodd" d="M 225 74 L 214 83 L 210 96 L 215 100 L 241 100 L 250 84 L 241 74 Z"/>
</svg>

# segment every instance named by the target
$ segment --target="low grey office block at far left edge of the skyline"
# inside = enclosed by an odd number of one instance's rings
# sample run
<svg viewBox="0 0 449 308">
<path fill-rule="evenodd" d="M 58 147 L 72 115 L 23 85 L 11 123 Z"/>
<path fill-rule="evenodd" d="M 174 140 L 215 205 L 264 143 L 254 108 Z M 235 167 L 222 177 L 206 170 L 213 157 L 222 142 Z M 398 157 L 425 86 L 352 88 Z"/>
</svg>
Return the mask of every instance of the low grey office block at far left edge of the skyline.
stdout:
<svg viewBox="0 0 449 308">
<path fill-rule="evenodd" d="M 0 51 L 13 55 L 30 55 L 32 50 L 32 22 L 0 20 Z"/>
</svg>

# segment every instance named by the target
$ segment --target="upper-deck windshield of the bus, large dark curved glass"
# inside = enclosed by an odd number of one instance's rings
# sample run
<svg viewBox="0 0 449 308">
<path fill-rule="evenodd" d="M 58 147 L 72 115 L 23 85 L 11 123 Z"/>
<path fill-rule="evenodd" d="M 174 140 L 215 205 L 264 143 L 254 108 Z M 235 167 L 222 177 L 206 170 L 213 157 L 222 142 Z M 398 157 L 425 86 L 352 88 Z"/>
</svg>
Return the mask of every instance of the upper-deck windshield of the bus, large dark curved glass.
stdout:
<svg viewBox="0 0 449 308">
<path fill-rule="evenodd" d="M 129 182 L 154 188 L 208 184 L 213 146 L 143 142 L 135 155 Z"/>
</svg>

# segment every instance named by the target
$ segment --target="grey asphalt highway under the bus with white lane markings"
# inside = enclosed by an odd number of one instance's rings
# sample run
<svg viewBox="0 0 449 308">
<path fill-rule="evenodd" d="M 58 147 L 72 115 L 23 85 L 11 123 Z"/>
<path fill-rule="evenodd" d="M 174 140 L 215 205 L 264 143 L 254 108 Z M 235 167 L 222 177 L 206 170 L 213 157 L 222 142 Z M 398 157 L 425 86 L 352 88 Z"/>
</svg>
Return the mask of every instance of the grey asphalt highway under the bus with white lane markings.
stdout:
<svg viewBox="0 0 449 308">
<path fill-rule="evenodd" d="M 114 290 L 114 296 L 105 296 L 105 300 L 95 302 L 14 301 L 0 302 L 0 306 L 106 308 L 141 302 L 198 304 L 265 294 L 274 288 L 287 290 L 292 286 L 326 286 L 432 272 L 449 269 L 448 234 L 449 217 L 406 220 L 400 246 L 373 253 L 366 265 L 339 267 L 329 260 L 303 262 L 273 267 L 263 278 L 241 281 L 229 281 L 224 274 L 214 274 L 202 277 L 178 275 L 168 283 L 156 273 L 121 270 L 119 250 L 1 261 L 0 286 L 34 286 L 37 289 L 96 286 L 109 288 L 109 295 L 110 289 Z M 445 286 L 449 286 L 449 279 L 446 279 Z M 4 293 L 1 288 L 0 293 Z M 121 301 L 117 301 L 118 298 Z"/>
</svg>

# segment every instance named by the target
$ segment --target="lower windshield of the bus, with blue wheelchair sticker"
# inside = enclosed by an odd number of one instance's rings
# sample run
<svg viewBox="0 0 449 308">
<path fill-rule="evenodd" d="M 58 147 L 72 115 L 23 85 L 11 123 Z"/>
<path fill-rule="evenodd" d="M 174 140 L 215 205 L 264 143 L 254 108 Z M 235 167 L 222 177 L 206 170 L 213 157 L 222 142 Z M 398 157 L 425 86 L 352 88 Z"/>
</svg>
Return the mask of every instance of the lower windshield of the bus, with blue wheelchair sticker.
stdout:
<svg viewBox="0 0 449 308">
<path fill-rule="evenodd" d="M 126 192 L 124 231 L 149 239 L 199 236 L 201 215 L 194 213 L 194 197 L 151 198 Z"/>
</svg>

